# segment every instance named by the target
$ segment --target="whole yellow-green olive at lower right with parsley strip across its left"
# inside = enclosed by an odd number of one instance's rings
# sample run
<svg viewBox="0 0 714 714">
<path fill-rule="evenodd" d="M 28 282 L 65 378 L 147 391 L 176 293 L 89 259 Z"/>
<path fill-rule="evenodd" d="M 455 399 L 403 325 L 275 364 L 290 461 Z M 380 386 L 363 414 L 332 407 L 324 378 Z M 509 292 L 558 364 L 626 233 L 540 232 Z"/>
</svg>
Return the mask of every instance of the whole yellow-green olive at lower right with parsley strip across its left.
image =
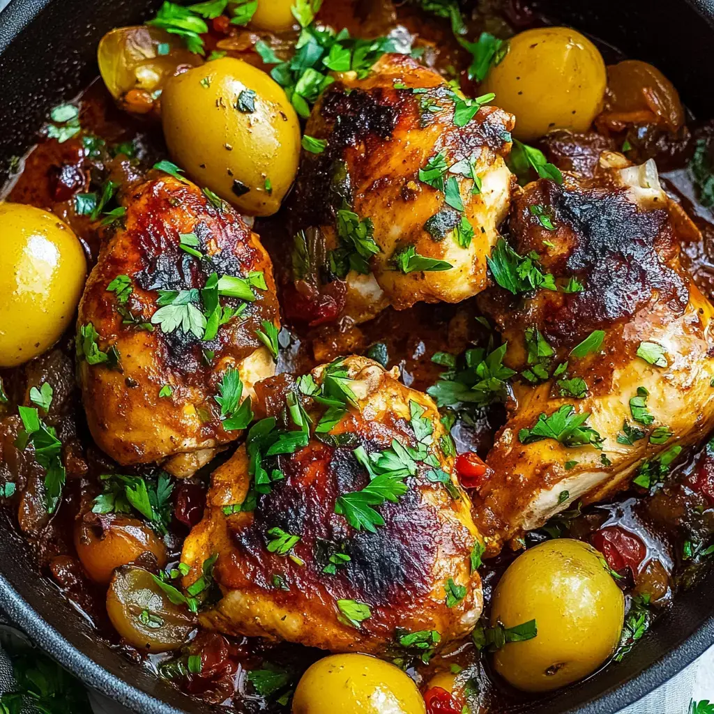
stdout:
<svg viewBox="0 0 714 714">
<path fill-rule="evenodd" d="M 603 556 L 580 540 L 558 538 L 526 550 L 503 574 L 491 623 L 515 627 L 535 620 L 538 635 L 506 643 L 496 671 L 526 692 L 545 692 L 582 679 L 617 648 L 625 598 Z"/>
</svg>

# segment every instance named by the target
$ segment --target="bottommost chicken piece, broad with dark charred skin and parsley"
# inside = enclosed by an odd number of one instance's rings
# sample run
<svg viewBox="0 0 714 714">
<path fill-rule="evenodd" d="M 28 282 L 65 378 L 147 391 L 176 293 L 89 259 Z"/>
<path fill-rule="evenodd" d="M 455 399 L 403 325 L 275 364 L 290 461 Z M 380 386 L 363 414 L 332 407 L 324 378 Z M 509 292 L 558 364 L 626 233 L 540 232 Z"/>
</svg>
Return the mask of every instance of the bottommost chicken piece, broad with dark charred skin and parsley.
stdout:
<svg viewBox="0 0 714 714">
<path fill-rule="evenodd" d="M 316 427 L 319 415 L 308 406 L 313 428 L 302 442 L 306 446 L 273 459 L 263 456 L 267 473 L 278 468 L 284 478 L 272 472 L 269 493 L 258 493 L 252 511 L 240 512 L 233 504 L 246 501 L 252 490 L 255 431 L 247 442 L 253 456 L 241 446 L 213 473 L 203 521 L 183 544 L 181 560 L 192 568 L 184 585 L 218 553 L 213 577 L 223 599 L 201 622 L 224 633 L 385 656 L 404 654 L 398 638 L 406 632 L 436 630 L 438 645 L 461 638 L 481 613 L 481 580 L 471 565 L 481 540 L 468 496 L 453 476 L 453 451 L 443 451 L 436 406 L 398 382 L 393 371 L 362 357 L 316 368 L 312 374 L 322 394 L 333 394 L 326 385 L 334 386 L 341 369 L 356 406 L 321 433 L 314 431 L 322 428 Z M 418 463 L 401 447 L 412 449 Z M 346 494 L 370 484 L 377 488 L 378 479 L 384 487 L 385 477 L 370 481 L 358 460 L 361 451 L 372 455 L 376 469 L 379 452 L 397 467 L 410 461 L 412 467 L 412 475 L 396 477 L 404 488 L 393 502 L 369 501 L 376 509 L 370 528 L 356 528 L 349 509 L 336 512 Z M 259 480 L 253 477 L 253 483 Z M 291 545 L 287 550 L 278 547 L 281 533 L 296 537 L 292 545 L 283 540 Z M 354 603 L 368 610 L 360 613 Z"/>
</svg>

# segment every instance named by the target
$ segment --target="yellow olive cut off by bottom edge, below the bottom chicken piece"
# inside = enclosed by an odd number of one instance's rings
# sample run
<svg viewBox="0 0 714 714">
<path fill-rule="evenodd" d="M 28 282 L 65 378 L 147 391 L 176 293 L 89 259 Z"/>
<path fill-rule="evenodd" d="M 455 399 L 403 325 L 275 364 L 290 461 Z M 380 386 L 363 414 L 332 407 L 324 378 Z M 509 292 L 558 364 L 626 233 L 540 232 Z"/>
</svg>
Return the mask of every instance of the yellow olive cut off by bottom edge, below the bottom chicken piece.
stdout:
<svg viewBox="0 0 714 714">
<path fill-rule="evenodd" d="M 368 655 L 331 655 L 303 674 L 293 714 L 425 714 L 424 700 L 403 671 Z"/>
</svg>

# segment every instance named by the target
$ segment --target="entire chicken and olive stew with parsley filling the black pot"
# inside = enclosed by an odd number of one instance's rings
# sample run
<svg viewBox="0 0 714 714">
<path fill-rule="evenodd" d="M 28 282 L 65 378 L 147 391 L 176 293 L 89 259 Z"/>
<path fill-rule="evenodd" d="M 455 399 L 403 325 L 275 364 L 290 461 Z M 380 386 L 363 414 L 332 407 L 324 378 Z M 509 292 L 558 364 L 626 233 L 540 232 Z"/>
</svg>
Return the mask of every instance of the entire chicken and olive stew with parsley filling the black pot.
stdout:
<svg viewBox="0 0 714 714">
<path fill-rule="evenodd" d="M 58 597 L 241 713 L 525 712 L 646 647 L 714 563 L 714 123 L 521 0 L 167 0 L 97 59 L 0 192 Z"/>
</svg>

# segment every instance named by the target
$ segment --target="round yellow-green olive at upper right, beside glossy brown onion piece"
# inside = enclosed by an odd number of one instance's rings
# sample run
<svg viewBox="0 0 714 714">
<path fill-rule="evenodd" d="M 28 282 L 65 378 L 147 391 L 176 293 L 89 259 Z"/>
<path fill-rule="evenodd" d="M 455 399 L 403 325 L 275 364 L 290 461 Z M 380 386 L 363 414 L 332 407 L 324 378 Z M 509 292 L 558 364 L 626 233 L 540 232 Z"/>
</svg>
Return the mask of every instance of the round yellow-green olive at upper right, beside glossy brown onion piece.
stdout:
<svg viewBox="0 0 714 714">
<path fill-rule="evenodd" d="M 568 27 L 526 30 L 479 88 L 516 115 L 516 139 L 538 139 L 550 129 L 585 131 L 603 106 L 607 74 L 600 52 Z"/>
</svg>

